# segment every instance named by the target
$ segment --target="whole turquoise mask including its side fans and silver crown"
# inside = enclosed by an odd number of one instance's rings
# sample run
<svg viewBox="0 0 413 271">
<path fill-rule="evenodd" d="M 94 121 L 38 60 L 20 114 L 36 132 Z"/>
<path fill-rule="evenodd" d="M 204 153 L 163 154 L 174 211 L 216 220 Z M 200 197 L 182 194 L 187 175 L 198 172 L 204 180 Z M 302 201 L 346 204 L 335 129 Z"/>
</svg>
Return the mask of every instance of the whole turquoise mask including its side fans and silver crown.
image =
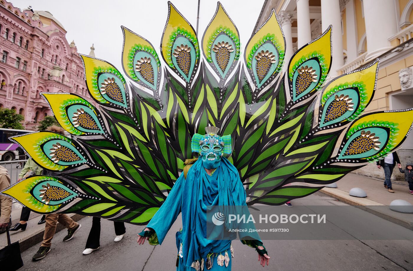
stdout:
<svg viewBox="0 0 413 271">
<path fill-rule="evenodd" d="M 222 155 L 231 153 L 231 136 L 219 136 L 219 128 L 214 126 L 205 127 L 205 131 L 205 135 L 196 133 L 192 137 L 191 150 L 199 152 L 204 168 L 216 169 L 221 163 Z"/>
</svg>

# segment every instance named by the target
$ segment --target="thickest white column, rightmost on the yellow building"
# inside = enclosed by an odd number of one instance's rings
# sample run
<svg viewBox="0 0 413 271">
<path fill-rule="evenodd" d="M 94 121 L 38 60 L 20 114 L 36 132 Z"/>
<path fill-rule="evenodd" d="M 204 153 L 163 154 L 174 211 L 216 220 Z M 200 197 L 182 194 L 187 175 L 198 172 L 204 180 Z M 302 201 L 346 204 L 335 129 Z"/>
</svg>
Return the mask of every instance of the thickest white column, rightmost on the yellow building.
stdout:
<svg viewBox="0 0 413 271">
<path fill-rule="evenodd" d="M 363 0 L 363 10 L 369 61 L 392 48 L 387 39 L 397 33 L 396 7 L 394 1 Z"/>
</svg>

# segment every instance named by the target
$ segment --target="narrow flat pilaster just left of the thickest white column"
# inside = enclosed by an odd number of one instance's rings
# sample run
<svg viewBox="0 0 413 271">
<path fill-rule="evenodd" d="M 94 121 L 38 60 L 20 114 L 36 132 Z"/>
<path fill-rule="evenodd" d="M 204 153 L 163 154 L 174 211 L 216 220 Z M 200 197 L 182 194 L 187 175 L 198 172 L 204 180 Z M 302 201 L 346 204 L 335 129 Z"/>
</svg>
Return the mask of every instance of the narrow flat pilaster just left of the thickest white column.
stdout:
<svg viewBox="0 0 413 271">
<path fill-rule="evenodd" d="M 357 57 L 358 44 L 355 15 L 354 0 L 350 0 L 346 5 L 347 63 Z"/>
</svg>

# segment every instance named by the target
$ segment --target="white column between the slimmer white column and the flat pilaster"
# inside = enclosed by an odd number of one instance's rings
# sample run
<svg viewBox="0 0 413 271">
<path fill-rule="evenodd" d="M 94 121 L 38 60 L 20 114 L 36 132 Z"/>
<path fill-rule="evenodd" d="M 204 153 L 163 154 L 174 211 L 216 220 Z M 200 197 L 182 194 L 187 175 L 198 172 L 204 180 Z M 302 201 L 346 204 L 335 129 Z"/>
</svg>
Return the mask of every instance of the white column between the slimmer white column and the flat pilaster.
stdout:
<svg viewBox="0 0 413 271">
<path fill-rule="evenodd" d="M 332 25 L 332 55 L 330 76 L 337 75 L 337 70 L 344 64 L 343 33 L 339 0 L 321 0 L 321 28 L 325 31 Z"/>
</svg>

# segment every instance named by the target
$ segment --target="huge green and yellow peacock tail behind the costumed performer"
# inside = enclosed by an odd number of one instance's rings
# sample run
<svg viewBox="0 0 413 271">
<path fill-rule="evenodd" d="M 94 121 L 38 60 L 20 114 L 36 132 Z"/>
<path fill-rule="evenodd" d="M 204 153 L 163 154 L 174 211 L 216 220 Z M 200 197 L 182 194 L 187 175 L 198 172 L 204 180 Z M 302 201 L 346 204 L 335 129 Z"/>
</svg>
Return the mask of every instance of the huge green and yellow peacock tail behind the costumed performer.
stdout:
<svg viewBox="0 0 413 271">
<path fill-rule="evenodd" d="M 3 193 L 38 213 L 146 224 L 193 158 L 191 136 L 216 126 L 233 139 L 228 159 L 248 203 L 278 205 L 382 159 L 410 132 L 412 109 L 362 114 L 373 98 L 378 60 L 326 83 L 331 27 L 300 48 L 283 74 L 285 39 L 274 11 L 242 54 L 219 2 L 202 40 L 168 6 L 160 55 L 122 27 L 129 81 L 108 62 L 81 55 L 98 108 L 78 95 L 43 93 L 72 136 L 14 137 L 56 176 L 29 177 Z"/>
</svg>

